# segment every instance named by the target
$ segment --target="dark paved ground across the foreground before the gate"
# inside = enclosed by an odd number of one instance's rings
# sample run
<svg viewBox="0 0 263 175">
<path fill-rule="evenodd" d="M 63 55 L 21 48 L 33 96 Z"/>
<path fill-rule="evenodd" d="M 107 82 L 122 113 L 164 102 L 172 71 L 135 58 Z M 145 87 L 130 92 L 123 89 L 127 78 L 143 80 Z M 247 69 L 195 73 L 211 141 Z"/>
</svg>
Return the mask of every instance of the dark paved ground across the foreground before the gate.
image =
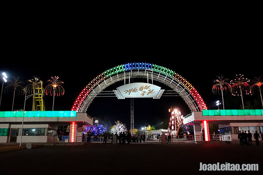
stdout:
<svg viewBox="0 0 263 175">
<path fill-rule="evenodd" d="M 262 148 L 263 144 L 41 145 L 2 152 L 0 174 L 261 174 Z M 256 163 L 259 171 L 198 171 L 200 162 Z"/>
</svg>

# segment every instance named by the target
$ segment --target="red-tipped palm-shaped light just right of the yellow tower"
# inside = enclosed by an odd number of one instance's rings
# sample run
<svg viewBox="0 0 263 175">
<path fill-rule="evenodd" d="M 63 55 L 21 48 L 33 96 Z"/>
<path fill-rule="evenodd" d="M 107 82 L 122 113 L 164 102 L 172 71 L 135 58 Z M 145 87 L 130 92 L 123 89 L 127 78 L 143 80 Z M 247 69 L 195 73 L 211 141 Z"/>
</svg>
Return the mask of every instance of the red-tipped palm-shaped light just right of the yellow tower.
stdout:
<svg viewBox="0 0 263 175">
<path fill-rule="evenodd" d="M 52 106 L 52 111 L 54 110 L 54 99 L 55 99 L 55 95 L 56 96 L 62 96 L 64 95 L 64 88 L 62 86 L 62 84 L 64 82 L 58 80 L 59 77 L 58 76 L 55 76 L 54 78 L 51 77 L 51 80 L 48 80 L 47 82 L 49 83 L 48 86 L 46 86 L 45 88 L 45 92 L 46 92 L 46 95 L 50 95 L 52 96 L 53 95 L 53 106 Z"/>
</svg>

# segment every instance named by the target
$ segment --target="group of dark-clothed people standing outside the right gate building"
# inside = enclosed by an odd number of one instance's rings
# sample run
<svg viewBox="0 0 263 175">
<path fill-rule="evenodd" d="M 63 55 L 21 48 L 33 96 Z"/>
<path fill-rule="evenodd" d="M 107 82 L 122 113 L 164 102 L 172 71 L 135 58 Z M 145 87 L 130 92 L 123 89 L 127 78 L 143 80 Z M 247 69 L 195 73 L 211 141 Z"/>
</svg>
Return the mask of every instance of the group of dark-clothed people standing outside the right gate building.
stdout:
<svg viewBox="0 0 263 175">
<path fill-rule="evenodd" d="M 255 133 L 253 134 L 254 139 L 256 140 L 256 145 L 259 145 L 259 133 L 258 131 L 255 131 Z M 238 131 L 238 140 L 240 142 L 240 145 L 252 145 L 252 133 L 249 130 L 242 130 Z"/>
</svg>

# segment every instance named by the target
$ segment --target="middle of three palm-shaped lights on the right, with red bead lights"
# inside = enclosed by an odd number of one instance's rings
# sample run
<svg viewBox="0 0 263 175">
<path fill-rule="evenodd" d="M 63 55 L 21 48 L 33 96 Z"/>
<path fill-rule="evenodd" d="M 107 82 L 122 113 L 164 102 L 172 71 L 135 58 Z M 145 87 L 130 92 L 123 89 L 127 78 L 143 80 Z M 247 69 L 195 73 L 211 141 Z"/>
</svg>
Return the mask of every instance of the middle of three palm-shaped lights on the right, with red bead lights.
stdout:
<svg viewBox="0 0 263 175">
<path fill-rule="evenodd" d="M 250 93 L 250 85 L 247 83 L 247 82 L 249 82 L 249 80 L 247 80 L 247 78 L 244 78 L 243 77 L 244 75 L 239 74 L 239 77 L 237 77 L 237 76 L 238 75 L 236 75 L 235 80 L 230 81 L 230 83 L 233 84 L 231 86 L 231 93 L 232 93 L 232 95 L 241 95 L 243 109 L 245 109 L 244 108 L 244 101 L 243 101 L 243 93 L 245 93 L 245 94 Z"/>
</svg>

